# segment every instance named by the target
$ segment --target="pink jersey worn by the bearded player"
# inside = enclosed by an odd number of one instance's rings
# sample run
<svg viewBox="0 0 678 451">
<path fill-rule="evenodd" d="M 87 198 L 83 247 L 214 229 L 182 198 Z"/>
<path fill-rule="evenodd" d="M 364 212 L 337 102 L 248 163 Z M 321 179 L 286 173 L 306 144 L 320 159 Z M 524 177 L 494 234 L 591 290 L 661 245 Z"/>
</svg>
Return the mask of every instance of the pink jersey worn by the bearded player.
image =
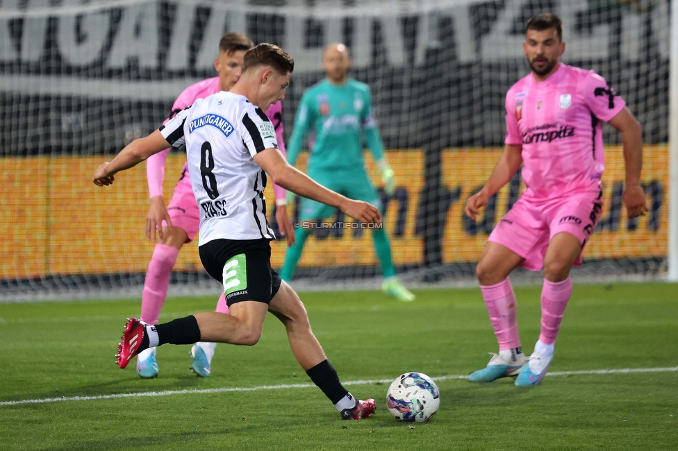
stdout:
<svg viewBox="0 0 678 451">
<path fill-rule="evenodd" d="M 529 74 L 506 93 L 506 144 L 522 145 L 525 194 L 563 196 L 595 187 L 605 169 L 600 121 L 624 108 L 595 71 L 563 65 L 543 82 Z"/>
</svg>

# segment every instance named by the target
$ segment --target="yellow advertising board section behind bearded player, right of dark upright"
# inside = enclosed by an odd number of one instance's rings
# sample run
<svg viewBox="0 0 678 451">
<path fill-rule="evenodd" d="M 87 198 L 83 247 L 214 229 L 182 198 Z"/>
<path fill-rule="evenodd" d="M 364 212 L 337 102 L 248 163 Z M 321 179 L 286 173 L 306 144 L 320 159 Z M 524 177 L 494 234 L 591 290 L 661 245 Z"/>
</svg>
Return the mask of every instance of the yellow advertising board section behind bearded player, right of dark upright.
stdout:
<svg viewBox="0 0 678 451">
<path fill-rule="evenodd" d="M 501 148 L 458 149 L 443 153 L 443 184 L 449 190 L 451 200 L 443 238 L 444 262 L 477 262 L 494 224 L 502 219 L 508 205 L 524 189 L 522 180 L 514 178 L 497 193 L 494 210 L 483 209 L 476 223 L 465 218 L 466 199 L 482 187 L 501 153 Z M 666 255 L 668 177 L 668 146 L 645 146 L 643 186 L 650 212 L 638 220 L 629 221 L 621 202 L 625 180 L 622 147 L 606 147 L 602 178 L 603 212 L 593 237 L 586 245 L 584 259 Z"/>
</svg>

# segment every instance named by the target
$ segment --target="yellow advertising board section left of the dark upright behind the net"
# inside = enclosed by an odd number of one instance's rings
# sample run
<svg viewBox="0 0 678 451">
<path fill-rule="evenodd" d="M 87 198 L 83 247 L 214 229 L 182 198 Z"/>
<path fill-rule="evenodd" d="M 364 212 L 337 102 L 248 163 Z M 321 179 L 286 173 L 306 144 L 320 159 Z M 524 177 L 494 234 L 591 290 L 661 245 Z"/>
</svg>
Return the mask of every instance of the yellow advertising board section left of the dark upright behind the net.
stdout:
<svg viewBox="0 0 678 451">
<path fill-rule="evenodd" d="M 306 167 L 306 155 L 299 158 L 301 169 Z M 414 230 L 424 184 L 422 152 L 390 151 L 388 158 L 399 194 L 386 210 L 393 259 L 396 264 L 418 263 L 422 244 Z M 365 160 L 370 178 L 381 185 L 371 155 L 366 154 Z M 146 165 L 119 173 L 110 187 L 97 187 L 92 175 L 103 161 L 102 157 L 0 159 L 0 209 L 5 214 L 0 222 L 0 279 L 146 271 L 154 248 L 144 235 L 149 205 Z M 167 158 L 166 204 L 184 162 L 185 155 L 179 153 Z M 270 182 L 265 196 L 271 220 L 274 196 Z M 301 266 L 377 264 L 369 230 L 361 236 L 356 236 L 355 230 L 341 232 L 327 237 L 314 232 L 306 242 Z M 274 267 L 281 266 L 285 249 L 283 240 L 272 244 Z M 202 269 L 195 242 L 182 248 L 174 269 Z"/>
</svg>

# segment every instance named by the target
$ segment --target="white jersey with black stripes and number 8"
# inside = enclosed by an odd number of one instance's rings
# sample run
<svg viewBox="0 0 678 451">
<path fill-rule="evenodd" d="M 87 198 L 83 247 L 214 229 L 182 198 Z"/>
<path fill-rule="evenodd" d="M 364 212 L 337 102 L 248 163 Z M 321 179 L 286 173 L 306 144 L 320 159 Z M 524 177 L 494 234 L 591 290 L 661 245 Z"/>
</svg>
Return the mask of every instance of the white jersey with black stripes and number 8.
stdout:
<svg viewBox="0 0 678 451">
<path fill-rule="evenodd" d="M 278 148 L 273 124 L 245 96 L 218 92 L 198 99 L 160 127 L 169 144 L 186 144 L 200 209 L 198 246 L 214 239 L 274 239 L 266 220 L 266 174 L 253 160 Z"/>
</svg>

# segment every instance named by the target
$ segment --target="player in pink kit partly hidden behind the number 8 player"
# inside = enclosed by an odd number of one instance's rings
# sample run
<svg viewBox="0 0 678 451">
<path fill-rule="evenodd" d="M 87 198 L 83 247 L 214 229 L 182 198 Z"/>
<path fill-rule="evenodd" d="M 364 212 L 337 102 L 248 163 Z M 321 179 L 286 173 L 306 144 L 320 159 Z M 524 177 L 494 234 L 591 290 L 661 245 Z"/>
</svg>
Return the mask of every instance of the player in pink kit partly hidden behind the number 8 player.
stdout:
<svg viewBox="0 0 678 451">
<path fill-rule="evenodd" d="M 219 42 L 219 56 L 215 60 L 215 69 L 217 69 L 219 76 L 208 78 L 187 87 L 174 101 L 172 112 L 170 112 L 167 120 L 172 119 L 177 112 L 190 107 L 197 99 L 205 99 L 217 92 L 231 90 L 231 87 L 240 78 L 242 59 L 247 50 L 253 46 L 254 43 L 242 33 L 226 33 Z M 274 124 L 279 150 L 284 155 L 281 103 L 272 104 L 266 114 Z M 146 235 L 150 240 L 156 241 L 157 230 L 159 237 L 151 262 L 149 262 L 141 300 L 141 320 L 148 324 L 158 323 L 160 309 L 162 309 L 167 297 L 169 277 L 176 263 L 176 257 L 179 255 L 179 250 L 185 243 L 190 243 L 195 238 L 200 226 L 200 212 L 195 196 L 193 196 L 186 164 L 184 164 L 181 176 L 179 176 L 179 182 L 174 187 L 172 200 L 165 208 L 163 177 L 167 153 L 169 153 L 169 148 L 151 156 L 146 167 L 151 198 L 146 220 Z M 281 234 L 287 237 L 289 244 L 292 244 L 295 232 L 285 207 L 287 192 L 277 185 L 273 185 L 273 189 L 276 205 L 280 207 L 276 209 L 276 221 Z M 217 301 L 216 311 L 224 314 L 229 313 L 224 293 Z M 210 375 L 210 362 L 216 345 L 217 343 L 200 342 L 191 348 L 191 370 L 197 375 L 201 377 Z M 156 348 L 149 348 L 138 355 L 137 373 L 144 378 L 158 375 Z"/>
</svg>

